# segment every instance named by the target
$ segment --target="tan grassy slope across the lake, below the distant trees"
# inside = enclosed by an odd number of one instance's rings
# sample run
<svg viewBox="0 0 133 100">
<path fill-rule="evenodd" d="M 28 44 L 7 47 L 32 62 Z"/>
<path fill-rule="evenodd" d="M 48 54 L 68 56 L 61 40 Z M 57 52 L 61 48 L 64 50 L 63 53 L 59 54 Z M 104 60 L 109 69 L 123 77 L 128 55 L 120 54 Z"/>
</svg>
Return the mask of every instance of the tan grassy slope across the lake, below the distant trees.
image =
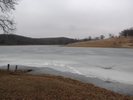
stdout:
<svg viewBox="0 0 133 100">
<path fill-rule="evenodd" d="M 77 42 L 68 44 L 66 46 L 133 48 L 133 43 L 131 43 L 131 37 L 128 36 L 127 38 L 125 38 L 124 36 L 121 36 L 104 40 Z"/>
</svg>

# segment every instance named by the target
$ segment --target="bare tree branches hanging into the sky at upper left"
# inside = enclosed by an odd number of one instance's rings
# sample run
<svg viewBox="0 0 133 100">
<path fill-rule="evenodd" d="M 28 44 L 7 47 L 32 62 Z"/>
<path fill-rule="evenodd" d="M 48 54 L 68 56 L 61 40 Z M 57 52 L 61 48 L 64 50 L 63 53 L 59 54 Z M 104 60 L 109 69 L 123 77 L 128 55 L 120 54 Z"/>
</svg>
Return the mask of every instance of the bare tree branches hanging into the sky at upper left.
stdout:
<svg viewBox="0 0 133 100">
<path fill-rule="evenodd" d="M 15 5 L 18 4 L 19 0 L 0 0 L 0 29 L 4 33 L 10 34 L 16 30 L 13 19 L 10 19 L 8 13 L 15 10 Z"/>
</svg>

